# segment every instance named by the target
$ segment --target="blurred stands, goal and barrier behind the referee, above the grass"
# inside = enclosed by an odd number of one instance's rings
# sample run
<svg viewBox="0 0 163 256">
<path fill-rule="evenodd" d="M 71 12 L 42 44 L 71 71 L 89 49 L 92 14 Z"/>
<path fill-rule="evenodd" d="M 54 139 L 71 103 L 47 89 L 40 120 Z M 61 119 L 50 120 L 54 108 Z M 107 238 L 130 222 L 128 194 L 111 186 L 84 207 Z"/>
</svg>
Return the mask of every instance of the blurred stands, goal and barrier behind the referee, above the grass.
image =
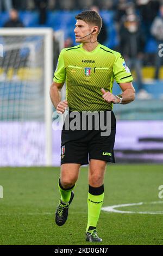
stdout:
<svg viewBox="0 0 163 256">
<path fill-rule="evenodd" d="M 117 162 L 162 163 L 162 6 L 153 0 L 1 0 L 0 166 L 59 166 L 60 131 L 51 131 L 48 86 L 61 48 L 76 44 L 74 15 L 85 9 L 99 11 L 99 42 L 120 51 L 134 74 L 136 100 L 114 106 Z M 116 83 L 113 93 L 120 93 Z"/>
</svg>

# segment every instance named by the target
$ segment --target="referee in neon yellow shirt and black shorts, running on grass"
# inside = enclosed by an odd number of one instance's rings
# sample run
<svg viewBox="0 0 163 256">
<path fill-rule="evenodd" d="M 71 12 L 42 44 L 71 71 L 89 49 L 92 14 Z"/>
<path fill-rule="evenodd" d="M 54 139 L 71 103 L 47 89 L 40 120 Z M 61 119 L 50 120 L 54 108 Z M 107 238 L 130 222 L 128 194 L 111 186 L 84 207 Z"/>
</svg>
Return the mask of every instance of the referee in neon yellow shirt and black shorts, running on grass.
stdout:
<svg viewBox="0 0 163 256">
<path fill-rule="evenodd" d="M 96 11 L 83 11 L 76 16 L 74 34 L 80 43 L 60 52 L 57 69 L 50 89 L 51 100 L 57 112 L 111 114 L 111 132 L 101 135 L 101 129 L 65 130 L 61 134 L 61 173 L 58 187 L 61 195 L 55 212 L 55 222 L 63 225 L 73 200 L 73 188 L 78 180 L 79 168 L 89 164 L 89 192 L 87 197 L 86 241 L 101 242 L 97 222 L 104 199 L 104 173 L 107 162 L 115 162 L 114 143 L 116 119 L 113 103 L 127 104 L 135 99 L 133 77 L 120 53 L 98 43 L 102 19 Z M 112 94 L 114 80 L 122 94 Z M 60 90 L 66 81 L 66 100 L 61 101 Z M 67 117 L 66 117 L 67 118 Z M 71 118 L 70 118 L 71 120 Z M 89 156 L 89 157 L 88 157 Z M 89 158 L 89 161 L 88 161 Z"/>
</svg>

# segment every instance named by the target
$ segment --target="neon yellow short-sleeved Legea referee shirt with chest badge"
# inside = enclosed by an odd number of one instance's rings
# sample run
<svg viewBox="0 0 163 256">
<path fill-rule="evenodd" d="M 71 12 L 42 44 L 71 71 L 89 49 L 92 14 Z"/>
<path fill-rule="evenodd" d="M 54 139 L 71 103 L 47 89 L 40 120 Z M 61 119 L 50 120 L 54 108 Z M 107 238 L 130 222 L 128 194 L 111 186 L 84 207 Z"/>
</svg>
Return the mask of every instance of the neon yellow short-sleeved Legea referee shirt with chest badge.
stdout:
<svg viewBox="0 0 163 256">
<path fill-rule="evenodd" d="M 133 81 L 121 54 L 101 44 L 87 52 L 80 44 L 62 49 L 53 81 L 66 81 L 70 111 L 82 112 L 112 109 L 112 103 L 103 99 L 101 88 L 112 92 L 114 80 L 117 83 Z"/>
</svg>

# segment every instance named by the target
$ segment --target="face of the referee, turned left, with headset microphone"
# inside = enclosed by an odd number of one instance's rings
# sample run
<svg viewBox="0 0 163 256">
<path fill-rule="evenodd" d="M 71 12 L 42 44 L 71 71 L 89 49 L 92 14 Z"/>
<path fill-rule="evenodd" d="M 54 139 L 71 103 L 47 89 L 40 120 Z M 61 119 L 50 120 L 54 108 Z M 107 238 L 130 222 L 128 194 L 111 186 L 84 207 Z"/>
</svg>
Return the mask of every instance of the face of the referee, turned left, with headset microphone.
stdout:
<svg viewBox="0 0 163 256">
<path fill-rule="evenodd" d="M 76 42 L 89 42 L 90 35 L 85 36 L 93 31 L 93 27 L 88 25 L 85 21 L 77 20 L 76 28 L 74 29 L 74 33 L 76 35 Z M 83 38 L 83 36 L 85 36 Z"/>
</svg>

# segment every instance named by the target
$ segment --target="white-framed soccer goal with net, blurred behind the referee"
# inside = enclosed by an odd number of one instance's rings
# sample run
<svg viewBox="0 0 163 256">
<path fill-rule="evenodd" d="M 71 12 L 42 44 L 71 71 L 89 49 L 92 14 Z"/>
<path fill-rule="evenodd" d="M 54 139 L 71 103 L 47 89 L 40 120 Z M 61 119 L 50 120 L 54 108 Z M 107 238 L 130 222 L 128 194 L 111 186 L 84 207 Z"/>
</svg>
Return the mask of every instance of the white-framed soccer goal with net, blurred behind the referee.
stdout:
<svg viewBox="0 0 163 256">
<path fill-rule="evenodd" d="M 0 29 L 0 166 L 52 165 L 49 87 L 63 40 L 50 28 Z"/>
</svg>

